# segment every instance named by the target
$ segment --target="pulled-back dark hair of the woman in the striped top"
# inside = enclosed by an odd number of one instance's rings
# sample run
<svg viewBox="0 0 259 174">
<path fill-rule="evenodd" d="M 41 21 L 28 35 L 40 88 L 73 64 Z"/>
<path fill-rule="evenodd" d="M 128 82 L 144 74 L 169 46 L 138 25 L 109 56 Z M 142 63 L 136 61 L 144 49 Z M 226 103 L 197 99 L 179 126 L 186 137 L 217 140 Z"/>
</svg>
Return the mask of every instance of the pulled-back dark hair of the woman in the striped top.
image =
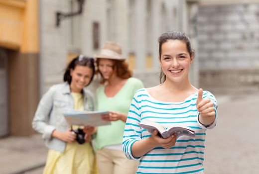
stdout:
<svg viewBox="0 0 259 174">
<path fill-rule="evenodd" d="M 159 38 L 158 38 L 158 43 L 159 43 L 159 59 L 161 59 L 161 53 L 162 53 L 162 44 L 167 42 L 168 40 L 181 40 L 183 42 L 186 43 L 186 47 L 187 47 L 187 51 L 191 56 L 193 56 L 193 58 L 195 57 L 195 50 L 192 49 L 191 47 L 191 42 L 190 42 L 190 38 L 187 36 L 186 33 L 181 32 L 181 31 L 168 31 L 166 33 L 163 33 Z M 160 69 L 160 84 L 162 84 L 166 77 L 162 71 L 162 69 Z"/>
</svg>

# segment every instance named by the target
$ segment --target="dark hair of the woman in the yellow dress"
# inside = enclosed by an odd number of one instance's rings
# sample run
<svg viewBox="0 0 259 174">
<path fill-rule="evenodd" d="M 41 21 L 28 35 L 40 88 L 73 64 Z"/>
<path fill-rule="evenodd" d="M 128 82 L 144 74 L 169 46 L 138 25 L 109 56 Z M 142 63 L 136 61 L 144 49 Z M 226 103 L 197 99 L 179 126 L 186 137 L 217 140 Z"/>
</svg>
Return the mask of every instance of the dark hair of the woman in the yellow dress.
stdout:
<svg viewBox="0 0 259 174">
<path fill-rule="evenodd" d="M 72 77 L 70 75 L 70 70 L 74 70 L 76 68 L 77 65 L 80 66 L 86 66 L 88 68 L 90 68 L 93 72 L 92 77 L 90 82 L 87 84 L 87 86 L 92 82 L 94 75 L 95 75 L 95 64 L 94 64 L 94 59 L 91 57 L 86 57 L 83 55 L 79 55 L 76 58 L 74 58 L 67 66 L 67 68 L 65 69 L 65 73 L 64 73 L 64 77 L 63 77 L 63 81 L 67 82 L 69 85 L 71 84 L 72 81 Z"/>
</svg>

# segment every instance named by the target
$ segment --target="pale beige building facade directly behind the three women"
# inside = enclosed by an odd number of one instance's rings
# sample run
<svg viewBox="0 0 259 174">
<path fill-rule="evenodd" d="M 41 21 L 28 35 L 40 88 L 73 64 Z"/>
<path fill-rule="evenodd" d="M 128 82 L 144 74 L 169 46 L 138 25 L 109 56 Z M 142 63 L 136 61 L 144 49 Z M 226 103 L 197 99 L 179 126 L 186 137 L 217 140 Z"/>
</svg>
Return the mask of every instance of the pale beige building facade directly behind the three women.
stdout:
<svg viewBox="0 0 259 174">
<path fill-rule="evenodd" d="M 77 0 L 40 0 L 41 94 L 62 82 L 67 58 L 94 56 L 106 41 L 119 42 L 134 76 L 145 87 L 159 84 L 157 39 L 163 32 L 193 32 L 194 1 L 185 0 L 84 0 L 83 12 L 56 26 L 55 13 L 77 11 Z M 194 35 L 192 35 L 194 36 Z M 194 47 L 197 47 L 193 37 Z M 198 58 L 197 58 L 198 59 Z M 50 64 L 51 62 L 51 64 Z M 196 63 L 197 62 L 197 63 Z M 198 60 L 192 81 L 198 85 Z"/>
</svg>

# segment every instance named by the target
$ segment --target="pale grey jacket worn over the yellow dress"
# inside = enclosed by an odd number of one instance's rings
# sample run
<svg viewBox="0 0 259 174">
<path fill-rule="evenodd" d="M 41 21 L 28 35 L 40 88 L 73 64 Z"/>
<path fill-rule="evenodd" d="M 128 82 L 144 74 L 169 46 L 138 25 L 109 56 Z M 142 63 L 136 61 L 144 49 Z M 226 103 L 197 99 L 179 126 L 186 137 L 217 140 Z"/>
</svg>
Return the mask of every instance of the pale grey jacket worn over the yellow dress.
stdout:
<svg viewBox="0 0 259 174">
<path fill-rule="evenodd" d="M 84 109 L 94 110 L 95 102 L 92 92 L 83 89 Z M 54 130 L 65 132 L 69 129 L 64 116 L 64 109 L 73 109 L 74 101 L 68 83 L 54 85 L 42 96 L 34 118 L 32 128 L 42 133 L 47 148 L 64 152 L 66 142 L 51 137 Z"/>
</svg>

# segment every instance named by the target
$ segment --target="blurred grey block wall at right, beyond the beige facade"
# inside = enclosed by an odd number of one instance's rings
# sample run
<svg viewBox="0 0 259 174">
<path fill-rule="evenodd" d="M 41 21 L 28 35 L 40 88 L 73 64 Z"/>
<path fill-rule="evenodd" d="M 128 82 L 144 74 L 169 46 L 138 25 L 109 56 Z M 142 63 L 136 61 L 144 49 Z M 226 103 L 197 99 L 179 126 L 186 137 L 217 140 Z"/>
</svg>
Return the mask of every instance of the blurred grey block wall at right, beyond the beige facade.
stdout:
<svg viewBox="0 0 259 174">
<path fill-rule="evenodd" d="M 243 90 L 259 83 L 259 4 L 200 6 L 200 86 Z"/>
</svg>

